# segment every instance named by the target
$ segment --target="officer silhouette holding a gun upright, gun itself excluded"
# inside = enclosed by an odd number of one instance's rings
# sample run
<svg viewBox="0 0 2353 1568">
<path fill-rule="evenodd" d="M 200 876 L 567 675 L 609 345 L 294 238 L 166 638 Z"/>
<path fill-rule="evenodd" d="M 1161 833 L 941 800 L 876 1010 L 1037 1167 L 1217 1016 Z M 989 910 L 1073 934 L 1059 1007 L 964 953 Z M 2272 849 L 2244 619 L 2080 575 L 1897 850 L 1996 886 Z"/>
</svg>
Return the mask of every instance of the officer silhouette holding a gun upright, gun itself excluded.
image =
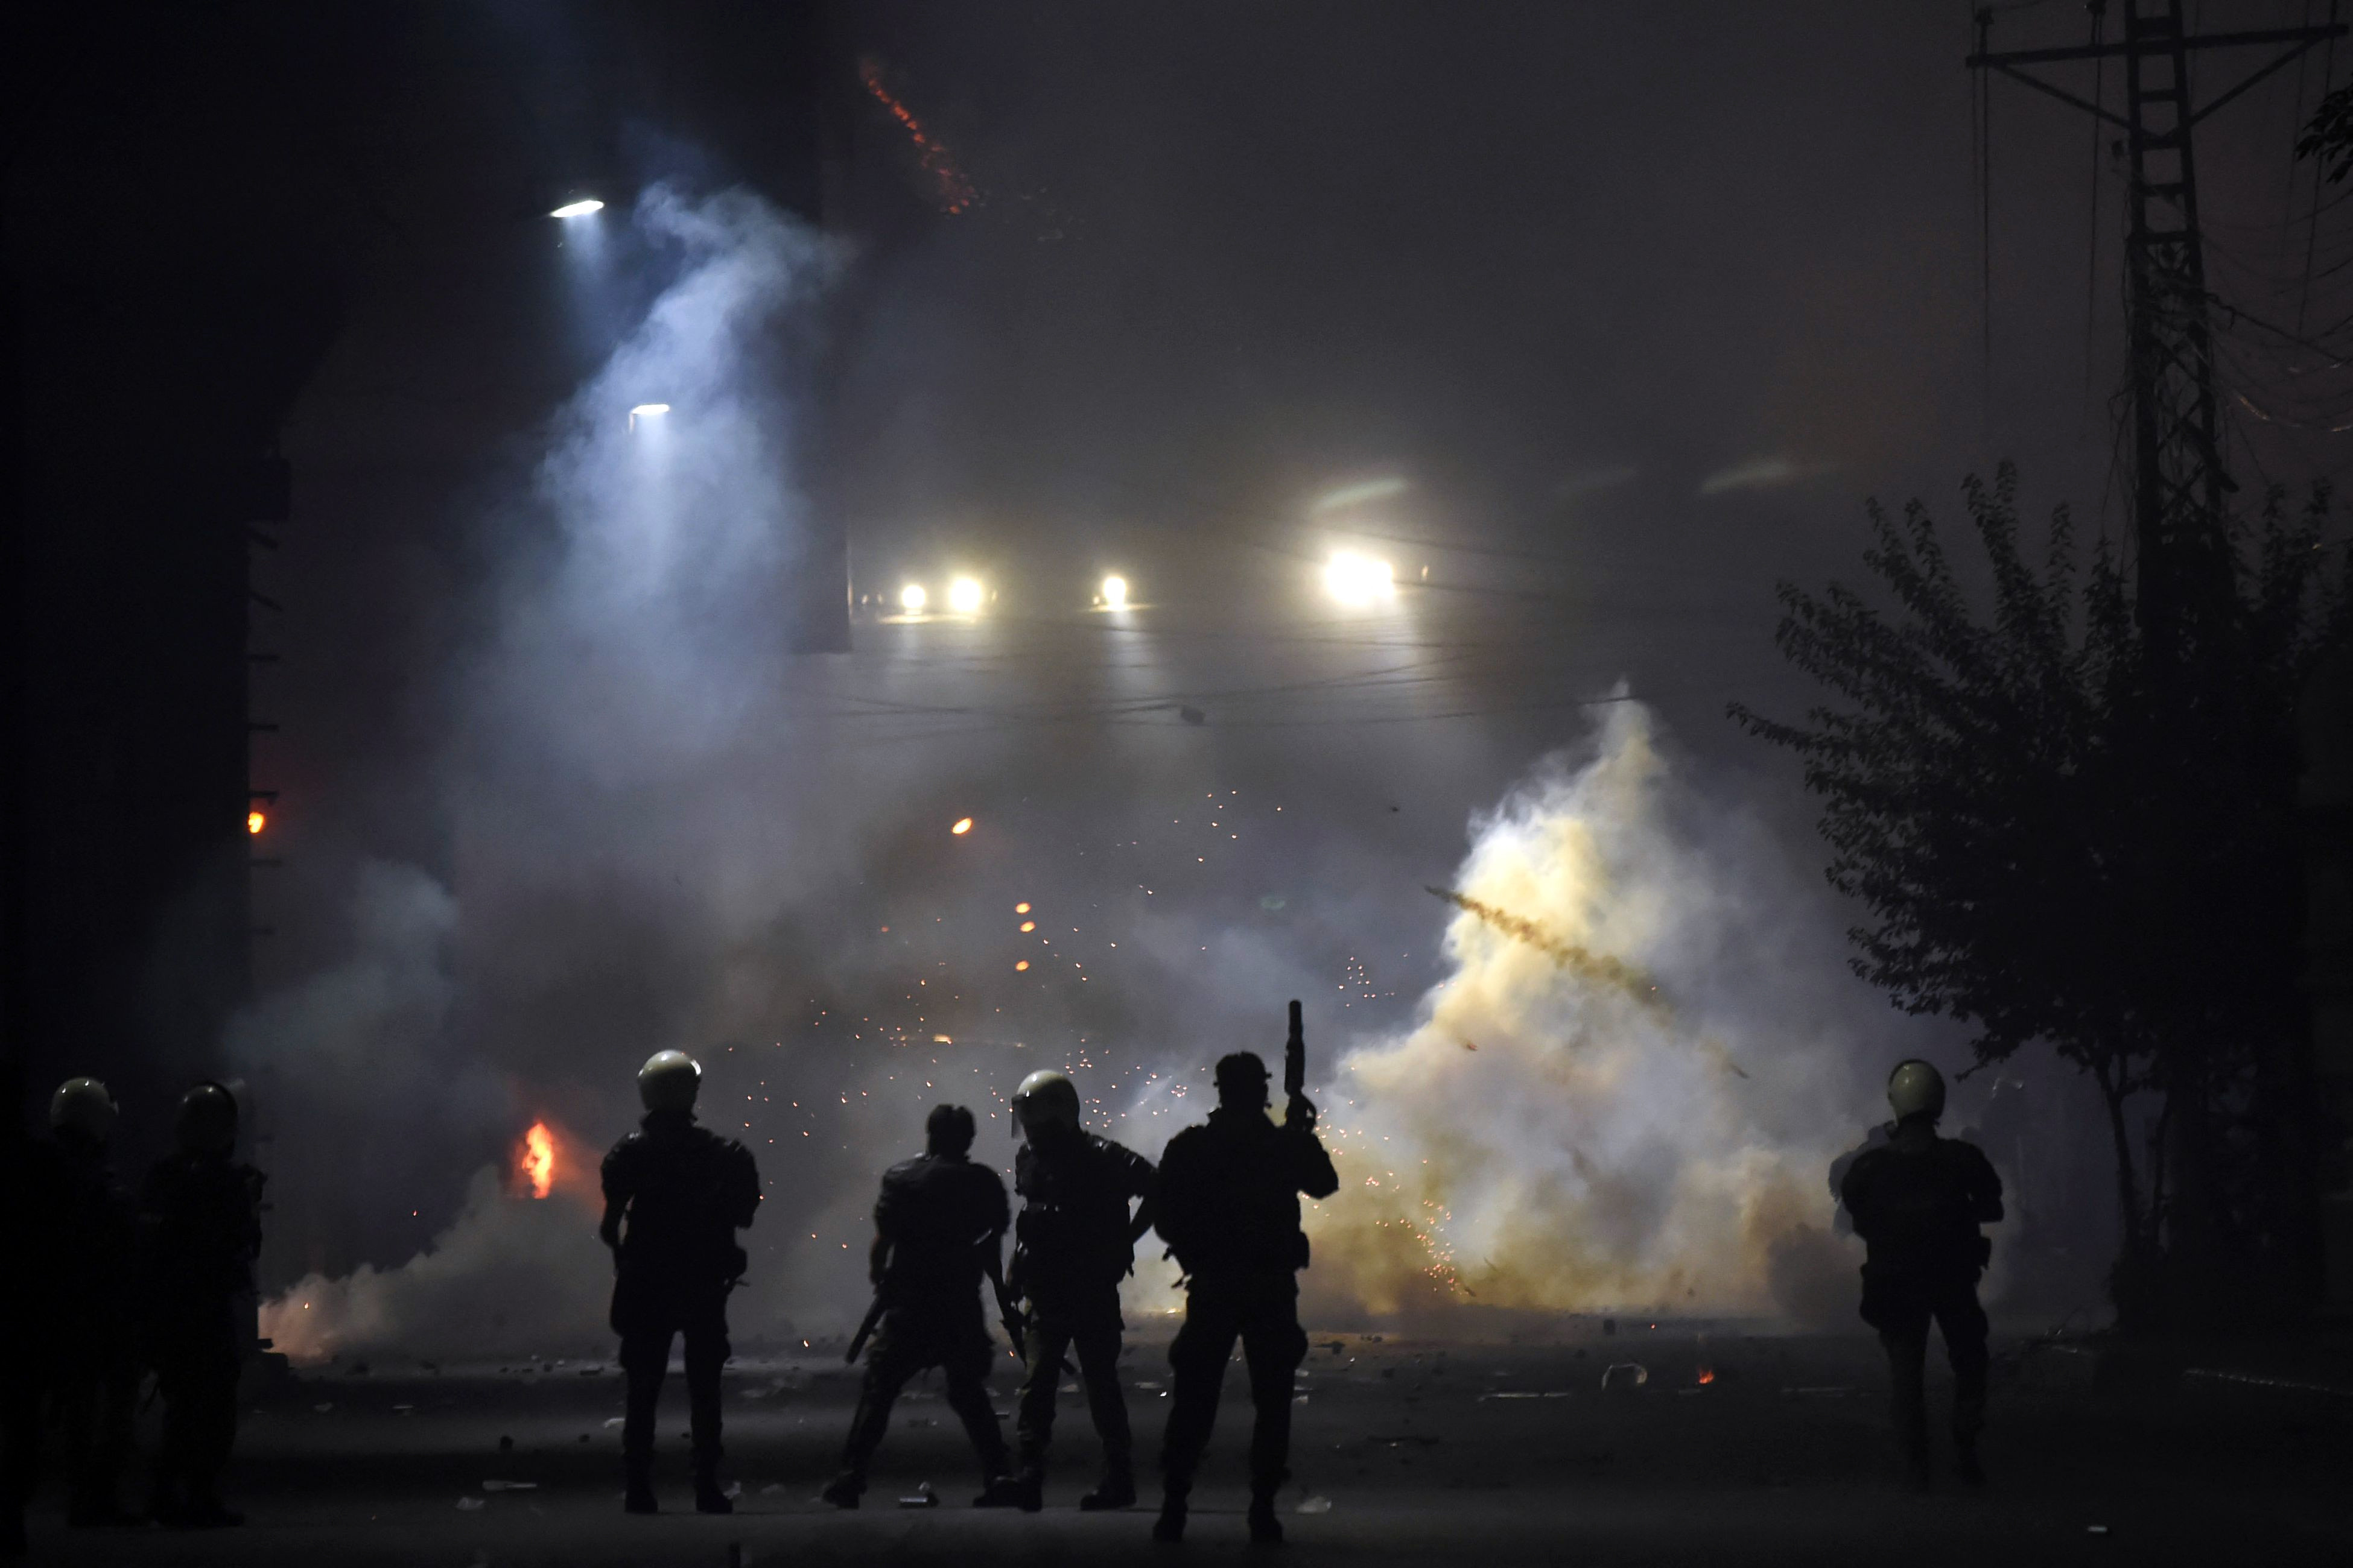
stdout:
<svg viewBox="0 0 2353 1568">
<path fill-rule="evenodd" d="M 1299 1328 L 1299 1269 L 1308 1239 L 1299 1194 L 1332 1197 L 1339 1175 L 1315 1138 L 1315 1112 L 1292 1098 L 1285 1121 L 1266 1117 L 1266 1063 L 1235 1051 L 1217 1063 L 1217 1110 L 1205 1126 L 1169 1138 L 1160 1157 L 1158 1227 L 1184 1267 L 1184 1328 L 1169 1345 L 1176 1389 L 1160 1448 L 1162 1502 L 1155 1540 L 1184 1540 L 1193 1469 L 1217 1425 L 1217 1396 L 1242 1340 L 1249 1361 L 1249 1537 L 1280 1542 L 1275 1490 L 1289 1479 L 1292 1373 L 1308 1354 Z"/>
</svg>

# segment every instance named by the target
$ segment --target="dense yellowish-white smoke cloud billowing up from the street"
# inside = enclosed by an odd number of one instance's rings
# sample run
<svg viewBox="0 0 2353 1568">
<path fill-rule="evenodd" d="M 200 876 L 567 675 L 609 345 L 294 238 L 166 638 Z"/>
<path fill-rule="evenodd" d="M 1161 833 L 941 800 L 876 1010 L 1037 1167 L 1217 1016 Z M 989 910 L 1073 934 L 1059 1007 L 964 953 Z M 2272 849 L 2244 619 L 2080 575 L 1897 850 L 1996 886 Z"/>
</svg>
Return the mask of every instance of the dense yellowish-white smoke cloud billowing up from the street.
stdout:
<svg viewBox="0 0 2353 1568">
<path fill-rule="evenodd" d="M 1332 1309 L 1852 1314 L 1824 1173 L 1868 1100 L 1737 952 L 1769 889 L 1678 832 L 1649 712 L 1607 712 L 1478 823 L 1419 1023 L 1339 1063 Z"/>
</svg>

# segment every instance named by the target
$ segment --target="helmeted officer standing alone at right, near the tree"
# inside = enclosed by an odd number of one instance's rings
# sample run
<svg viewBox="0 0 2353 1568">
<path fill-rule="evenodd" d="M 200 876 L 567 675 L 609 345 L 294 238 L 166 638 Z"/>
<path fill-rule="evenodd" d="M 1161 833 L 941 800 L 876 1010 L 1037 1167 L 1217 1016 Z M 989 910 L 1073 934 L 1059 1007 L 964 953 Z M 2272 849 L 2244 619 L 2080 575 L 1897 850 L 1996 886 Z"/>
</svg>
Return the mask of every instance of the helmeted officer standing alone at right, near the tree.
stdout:
<svg viewBox="0 0 2353 1568">
<path fill-rule="evenodd" d="M 1864 1321 L 1880 1331 L 1894 1382 L 1897 1441 L 1918 1483 L 1927 1483 L 1927 1324 L 1944 1331 L 1953 1363 L 1953 1448 L 1965 1481 L 1984 1481 L 1977 1434 L 1986 1425 L 1986 1309 L 1977 1276 L 1993 1246 L 1977 1229 L 2002 1218 L 2002 1178 L 1974 1143 L 1937 1135 L 1944 1074 L 1899 1063 L 1887 1079 L 1897 1128 L 1847 1168 L 1840 1197 L 1864 1260 Z"/>
</svg>

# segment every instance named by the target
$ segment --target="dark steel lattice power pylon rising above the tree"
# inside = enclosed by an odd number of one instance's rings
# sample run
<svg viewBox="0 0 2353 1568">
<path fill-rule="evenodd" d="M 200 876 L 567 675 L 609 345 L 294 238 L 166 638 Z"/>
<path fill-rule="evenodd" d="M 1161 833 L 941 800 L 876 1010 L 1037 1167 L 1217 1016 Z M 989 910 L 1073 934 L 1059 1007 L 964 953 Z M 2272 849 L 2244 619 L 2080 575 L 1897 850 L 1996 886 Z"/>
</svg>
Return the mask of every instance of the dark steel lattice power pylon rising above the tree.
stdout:
<svg viewBox="0 0 2353 1568">
<path fill-rule="evenodd" d="M 2181 0 L 2122 0 L 2125 35 L 2104 40 L 2106 0 L 2089 0 L 2092 42 L 2066 49 L 1986 47 L 1991 9 L 1977 12 L 1969 71 L 1988 71 L 2118 127 L 2129 160 L 2125 195 L 2125 317 L 2132 364 L 2132 529 L 2139 550 L 2141 630 L 2160 665 L 2174 654 L 2186 602 L 2221 581 L 2221 505 L 2233 489 L 2214 407 L 2214 343 L 2207 329 L 2205 254 L 2198 235 L 2200 120 L 2299 59 L 2344 38 L 2337 7 L 2308 28 L 2191 33 Z M 2271 47 L 2278 54 L 2202 106 L 2191 101 L 2191 56 Z M 2125 61 L 2125 113 L 2045 80 L 2035 66 Z"/>
</svg>

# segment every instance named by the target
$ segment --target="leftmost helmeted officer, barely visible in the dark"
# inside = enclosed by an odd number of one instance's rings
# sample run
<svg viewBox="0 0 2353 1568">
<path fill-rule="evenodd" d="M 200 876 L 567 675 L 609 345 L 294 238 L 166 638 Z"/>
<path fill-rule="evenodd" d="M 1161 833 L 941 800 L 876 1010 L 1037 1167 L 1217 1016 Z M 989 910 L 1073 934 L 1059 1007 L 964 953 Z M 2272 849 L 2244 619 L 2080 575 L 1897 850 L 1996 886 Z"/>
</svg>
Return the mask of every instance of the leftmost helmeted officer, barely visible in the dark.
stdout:
<svg viewBox="0 0 2353 1568">
<path fill-rule="evenodd" d="M 73 1526 L 125 1523 L 118 1483 L 132 1448 L 139 1349 L 132 1331 L 136 1208 L 115 1180 L 106 1140 L 115 1100 L 96 1079 L 66 1079 L 49 1098 L 56 1152 L 47 1194 L 52 1396 L 66 1429 Z"/>
</svg>

